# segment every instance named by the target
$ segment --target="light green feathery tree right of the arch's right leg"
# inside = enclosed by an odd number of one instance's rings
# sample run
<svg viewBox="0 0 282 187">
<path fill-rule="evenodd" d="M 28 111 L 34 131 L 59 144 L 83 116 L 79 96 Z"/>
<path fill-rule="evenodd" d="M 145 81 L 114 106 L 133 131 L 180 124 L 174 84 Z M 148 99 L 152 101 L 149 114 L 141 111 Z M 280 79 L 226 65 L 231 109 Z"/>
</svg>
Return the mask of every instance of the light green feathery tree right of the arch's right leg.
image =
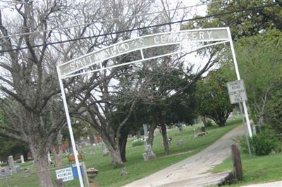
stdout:
<svg viewBox="0 0 282 187">
<path fill-rule="evenodd" d="M 241 77 L 245 80 L 252 119 L 264 122 L 266 104 L 281 77 L 282 32 L 269 30 L 236 44 Z M 280 78 L 281 79 L 281 78 Z"/>
</svg>

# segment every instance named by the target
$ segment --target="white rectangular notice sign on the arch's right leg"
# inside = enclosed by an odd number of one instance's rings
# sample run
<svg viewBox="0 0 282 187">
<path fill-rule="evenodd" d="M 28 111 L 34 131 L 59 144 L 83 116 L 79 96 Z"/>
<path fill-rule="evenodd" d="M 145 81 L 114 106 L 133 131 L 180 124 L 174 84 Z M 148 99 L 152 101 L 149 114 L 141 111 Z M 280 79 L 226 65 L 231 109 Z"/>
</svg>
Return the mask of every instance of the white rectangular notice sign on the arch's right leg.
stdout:
<svg viewBox="0 0 282 187">
<path fill-rule="evenodd" d="M 231 104 L 247 101 L 247 93 L 243 79 L 227 82 L 227 89 Z"/>
</svg>

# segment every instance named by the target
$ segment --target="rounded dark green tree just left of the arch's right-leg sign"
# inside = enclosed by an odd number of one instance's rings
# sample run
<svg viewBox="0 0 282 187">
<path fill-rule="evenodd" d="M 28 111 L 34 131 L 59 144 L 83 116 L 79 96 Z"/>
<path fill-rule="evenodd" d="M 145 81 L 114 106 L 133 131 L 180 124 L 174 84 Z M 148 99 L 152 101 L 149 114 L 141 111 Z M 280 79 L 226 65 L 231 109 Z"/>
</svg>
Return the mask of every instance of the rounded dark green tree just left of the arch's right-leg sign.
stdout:
<svg viewBox="0 0 282 187">
<path fill-rule="evenodd" d="M 197 83 L 195 100 L 197 111 L 204 117 L 209 117 L 219 127 L 226 124 L 226 120 L 235 105 L 231 105 L 226 88 L 226 82 L 234 79 L 231 67 L 221 67 L 209 72 L 209 75 Z"/>
</svg>

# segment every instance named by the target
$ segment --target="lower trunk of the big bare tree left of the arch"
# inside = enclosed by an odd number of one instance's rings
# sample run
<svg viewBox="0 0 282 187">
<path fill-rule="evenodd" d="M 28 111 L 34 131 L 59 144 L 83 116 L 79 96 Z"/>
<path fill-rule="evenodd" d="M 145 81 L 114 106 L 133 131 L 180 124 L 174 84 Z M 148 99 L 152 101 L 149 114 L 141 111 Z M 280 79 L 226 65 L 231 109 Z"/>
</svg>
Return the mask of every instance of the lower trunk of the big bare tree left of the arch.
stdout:
<svg viewBox="0 0 282 187">
<path fill-rule="evenodd" d="M 37 140 L 38 141 L 38 140 Z M 37 141 L 30 142 L 30 151 L 37 166 L 37 176 L 39 186 L 52 187 L 51 174 L 49 171 L 49 163 L 47 154 L 49 152 L 49 146 L 45 143 L 39 143 Z"/>
</svg>

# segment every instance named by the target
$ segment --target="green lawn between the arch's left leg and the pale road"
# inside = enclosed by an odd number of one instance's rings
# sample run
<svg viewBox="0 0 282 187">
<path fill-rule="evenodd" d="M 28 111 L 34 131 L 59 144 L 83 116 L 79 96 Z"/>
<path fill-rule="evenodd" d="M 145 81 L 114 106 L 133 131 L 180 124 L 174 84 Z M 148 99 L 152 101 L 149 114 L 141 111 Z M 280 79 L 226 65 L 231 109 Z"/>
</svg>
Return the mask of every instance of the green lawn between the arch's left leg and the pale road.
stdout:
<svg viewBox="0 0 282 187">
<path fill-rule="evenodd" d="M 164 155 L 162 138 L 159 134 L 154 138 L 153 146 L 157 158 L 150 160 L 149 162 L 144 162 L 142 159 L 142 153 L 145 152 L 144 146 L 133 147 L 131 142 L 128 141 L 126 150 L 128 162 L 125 162 L 124 166 L 128 169 L 128 174 L 125 176 L 120 176 L 123 168 L 113 169 L 113 166 L 110 163 L 111 157 L 101 157 L 101 155 L 98 155 L 99 153 L 97 153 L 96 157 L 99 158 L 98 160 L 86 156 L 85 162 L 87 167 L 95 167 L 99 170 L 97 181 L 101 186 L 122 186 L 157 172 L 160 169 L 164 169 L 190 155 L 194 155 L 200 150 L 207 148 L 207 146 L 211 145 L 214 141 L 223 136 L 223 134 L 226 134 L 226 132 L 238 126 L 238 124 L 240 124 L 240 120 L 222 128 L 211 127 L 208 129 L 207 136 L 203 136 L 202 138 L 194 138 L 193 128 L 195 127 L 185 127 L 181 133 L 179 133 L 178 129 L 169 130 L 168 136 L 173 138 L 173 142 L 170 145 L 171 154 L 168 157 L 165 157 Z M 180 139 L 184 141 L 182 147 L 177 146 L 177 141 Z"/>
</svg>

